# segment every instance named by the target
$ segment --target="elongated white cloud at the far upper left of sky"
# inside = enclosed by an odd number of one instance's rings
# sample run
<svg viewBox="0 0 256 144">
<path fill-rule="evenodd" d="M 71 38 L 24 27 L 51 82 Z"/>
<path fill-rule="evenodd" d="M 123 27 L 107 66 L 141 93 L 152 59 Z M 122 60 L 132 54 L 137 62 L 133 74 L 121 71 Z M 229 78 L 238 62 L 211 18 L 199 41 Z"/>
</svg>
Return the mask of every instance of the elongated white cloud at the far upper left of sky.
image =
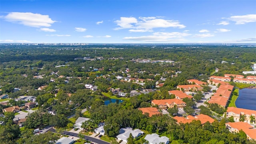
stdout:
<svg viewBox="0 0 256 144">
<path fill-rule="evenodd" d="M 36 28 L 49 27 L 53 24 L 54 20 L 49 18 L 48 15 L 34 14 L 31 12 L 10 12 L 4 19 L 8 22 L 23 24 L 25 26 L 32 26 Z"/>
</svg>

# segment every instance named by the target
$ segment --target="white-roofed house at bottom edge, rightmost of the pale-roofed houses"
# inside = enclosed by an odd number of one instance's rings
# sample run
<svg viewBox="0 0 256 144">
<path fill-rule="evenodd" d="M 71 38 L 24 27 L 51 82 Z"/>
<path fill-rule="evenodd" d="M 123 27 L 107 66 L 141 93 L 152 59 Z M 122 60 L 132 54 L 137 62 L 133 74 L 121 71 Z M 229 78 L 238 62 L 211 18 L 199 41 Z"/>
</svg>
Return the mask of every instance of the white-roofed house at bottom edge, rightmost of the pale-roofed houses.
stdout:
<svg viewBox="0 0 256 144">
<path fill-rule="evenodd" d="M 149 142 L 149 144 L 160 144 L 160 142 L 164 142 L 164 144 L 169 144 L 169 138 L 166 136 L 159 137 L 158 134 L 147 134 L 144 138 Z"/>
</svg>

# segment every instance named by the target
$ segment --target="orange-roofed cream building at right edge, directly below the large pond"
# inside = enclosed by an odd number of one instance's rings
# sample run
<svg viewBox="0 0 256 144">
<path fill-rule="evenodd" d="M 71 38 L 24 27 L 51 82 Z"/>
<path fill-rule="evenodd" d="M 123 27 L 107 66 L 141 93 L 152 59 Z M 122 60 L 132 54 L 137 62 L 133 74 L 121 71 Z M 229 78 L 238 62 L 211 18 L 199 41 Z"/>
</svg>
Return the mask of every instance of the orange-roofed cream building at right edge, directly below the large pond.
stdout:
<svg viewBox="0 0 256 144">
<path fill-rule="evenodd" d="M 226 117 L 229 118 L 229 117 L 233 116 L 235 122 L 239 122 L 241 115 L 245 115 L 246 116 L 245 122 L 250 123 L 250 116 L 256 116 L 256 110 L 228 107 L 228 109 L 226 111 Z"/>
</svg>

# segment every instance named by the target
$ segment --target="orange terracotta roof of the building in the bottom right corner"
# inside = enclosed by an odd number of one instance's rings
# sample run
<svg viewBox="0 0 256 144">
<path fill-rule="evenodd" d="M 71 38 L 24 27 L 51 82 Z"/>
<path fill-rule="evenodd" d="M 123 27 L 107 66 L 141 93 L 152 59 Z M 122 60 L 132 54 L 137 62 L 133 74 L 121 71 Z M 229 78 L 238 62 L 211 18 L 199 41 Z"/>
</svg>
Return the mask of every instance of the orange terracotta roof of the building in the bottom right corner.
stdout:
<svg viewBox="0 0 256 144">
<path fill-rule="evenodd" d="M 254 129 L 253 126 L 251 126 L 247 122 L 228 122 L 226 123 L 226 126 L 227 125 L 239 131 L 243 130 L 247 136 L 252 139 L 256 139 L 256 129 Z"/>
</svg>

